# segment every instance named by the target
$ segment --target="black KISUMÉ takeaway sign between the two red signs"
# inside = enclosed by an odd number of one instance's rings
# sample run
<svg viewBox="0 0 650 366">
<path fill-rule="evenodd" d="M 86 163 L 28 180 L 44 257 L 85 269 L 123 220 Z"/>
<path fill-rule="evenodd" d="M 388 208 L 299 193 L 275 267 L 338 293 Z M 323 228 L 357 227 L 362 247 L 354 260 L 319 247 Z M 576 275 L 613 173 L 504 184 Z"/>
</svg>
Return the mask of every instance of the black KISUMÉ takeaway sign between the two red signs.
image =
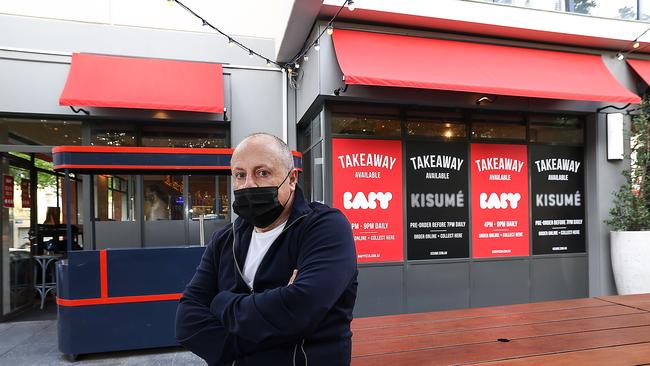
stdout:
<svg viewBox="0 0 650 366">
<path fill-rule="evenodd" d="M 406 145 L 409 260 L 469 256 L 467 144 Z"/>
</svg>

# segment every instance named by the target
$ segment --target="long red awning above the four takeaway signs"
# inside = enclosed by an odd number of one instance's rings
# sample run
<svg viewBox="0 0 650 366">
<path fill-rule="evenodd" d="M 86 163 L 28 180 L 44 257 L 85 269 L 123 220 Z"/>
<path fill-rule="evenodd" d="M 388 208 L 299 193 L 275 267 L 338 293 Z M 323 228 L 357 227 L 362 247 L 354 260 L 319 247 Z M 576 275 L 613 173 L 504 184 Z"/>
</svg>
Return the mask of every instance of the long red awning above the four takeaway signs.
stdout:
<svg viewBox="0 0 650 366">
<path fill-rule="evenodd" d="M 337 29 L 346 84 L 639 103 L 601 57 Z"/>
</svg>

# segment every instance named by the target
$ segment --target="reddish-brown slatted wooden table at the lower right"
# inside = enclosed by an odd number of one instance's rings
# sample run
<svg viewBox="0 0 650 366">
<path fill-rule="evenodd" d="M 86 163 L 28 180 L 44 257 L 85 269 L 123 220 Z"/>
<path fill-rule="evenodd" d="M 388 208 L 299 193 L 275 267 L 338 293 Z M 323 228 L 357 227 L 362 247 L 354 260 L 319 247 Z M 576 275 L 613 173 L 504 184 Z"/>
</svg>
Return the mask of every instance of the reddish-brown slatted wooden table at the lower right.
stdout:
<svg viewBox="0 0 650 366">
<path fill-rule="evenodd" d="M 352 365 L 650 365 L 650 294 L 359 318 Z"/>
</svg>

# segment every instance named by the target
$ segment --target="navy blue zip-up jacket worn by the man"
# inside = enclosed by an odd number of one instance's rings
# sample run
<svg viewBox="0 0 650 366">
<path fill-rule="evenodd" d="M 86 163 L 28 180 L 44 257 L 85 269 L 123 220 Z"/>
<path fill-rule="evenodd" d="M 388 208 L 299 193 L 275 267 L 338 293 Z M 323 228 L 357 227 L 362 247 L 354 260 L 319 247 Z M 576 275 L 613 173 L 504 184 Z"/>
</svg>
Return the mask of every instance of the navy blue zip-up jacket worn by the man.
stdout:
<svg viewBox="0 0 650 366">
<path fill-rule="evenodd" d="M 307 204 L 298 186 L 294 194 L 252 289 L 241 274 L 253 226 L 242 218 L 213 235 L 185 288 L 176 339 L 208 365 L 350 363 L 357 292 L 350 223 L 337 209 Z"/>
</svg>

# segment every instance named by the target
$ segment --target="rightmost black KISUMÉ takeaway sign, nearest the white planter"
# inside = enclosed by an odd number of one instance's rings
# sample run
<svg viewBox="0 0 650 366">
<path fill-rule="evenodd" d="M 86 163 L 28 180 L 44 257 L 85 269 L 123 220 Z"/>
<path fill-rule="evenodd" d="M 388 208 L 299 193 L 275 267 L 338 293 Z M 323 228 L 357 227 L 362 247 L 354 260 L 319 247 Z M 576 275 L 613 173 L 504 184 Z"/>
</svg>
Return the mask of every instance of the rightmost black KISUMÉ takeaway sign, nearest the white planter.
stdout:
<svg viewBox="0 0 650 366">
<path fill-rule="evenodd" d="M 530 146 L 533 254 L 585 251 L 583 150 Z"/>
</svg>

